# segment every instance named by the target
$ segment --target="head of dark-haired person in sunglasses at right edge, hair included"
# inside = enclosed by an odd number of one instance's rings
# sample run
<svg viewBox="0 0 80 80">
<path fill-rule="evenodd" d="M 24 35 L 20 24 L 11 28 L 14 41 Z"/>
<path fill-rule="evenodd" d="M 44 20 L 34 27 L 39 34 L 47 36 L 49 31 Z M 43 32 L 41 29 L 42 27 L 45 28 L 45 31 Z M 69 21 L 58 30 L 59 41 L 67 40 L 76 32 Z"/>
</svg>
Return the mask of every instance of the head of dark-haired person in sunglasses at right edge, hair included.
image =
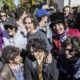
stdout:
<svg viewBox="0 0 80 80">
<path fill-rule="evenodd" d="M 80 56 L 80 37 L 68 36 L 63 44 L 65 58 L 75 60 Z"/>
</svg>

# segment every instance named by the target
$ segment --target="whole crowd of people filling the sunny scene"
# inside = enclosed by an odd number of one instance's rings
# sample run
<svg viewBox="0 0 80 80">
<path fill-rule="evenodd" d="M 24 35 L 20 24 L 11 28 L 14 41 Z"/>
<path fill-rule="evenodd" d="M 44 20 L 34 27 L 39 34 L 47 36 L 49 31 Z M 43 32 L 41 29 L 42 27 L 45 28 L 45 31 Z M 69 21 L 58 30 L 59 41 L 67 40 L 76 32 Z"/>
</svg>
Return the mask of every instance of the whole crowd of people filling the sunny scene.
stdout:
<svg viewBox="0 0 80 80">
<path fill-rule="evenodd" d="M 46 6 L 0 11 L 0 80 L 80 80 L 80 11 Z"/>
</svg>

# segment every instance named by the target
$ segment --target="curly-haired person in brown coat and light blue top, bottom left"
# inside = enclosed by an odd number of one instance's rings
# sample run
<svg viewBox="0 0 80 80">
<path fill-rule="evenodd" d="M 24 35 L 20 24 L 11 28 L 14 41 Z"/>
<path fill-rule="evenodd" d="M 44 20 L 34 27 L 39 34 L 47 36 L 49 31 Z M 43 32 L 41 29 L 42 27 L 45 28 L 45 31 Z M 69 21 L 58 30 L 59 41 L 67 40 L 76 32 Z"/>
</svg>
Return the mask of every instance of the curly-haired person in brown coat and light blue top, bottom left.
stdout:
<svg viewBox="0 0 80 80">
<path fill-rule="evenodd" d="M 20 50 L 14 46 L 6 46 L 2 54 L 4 65 L 0 72 L 0 80 L 25 80 Z"/>
</svg>

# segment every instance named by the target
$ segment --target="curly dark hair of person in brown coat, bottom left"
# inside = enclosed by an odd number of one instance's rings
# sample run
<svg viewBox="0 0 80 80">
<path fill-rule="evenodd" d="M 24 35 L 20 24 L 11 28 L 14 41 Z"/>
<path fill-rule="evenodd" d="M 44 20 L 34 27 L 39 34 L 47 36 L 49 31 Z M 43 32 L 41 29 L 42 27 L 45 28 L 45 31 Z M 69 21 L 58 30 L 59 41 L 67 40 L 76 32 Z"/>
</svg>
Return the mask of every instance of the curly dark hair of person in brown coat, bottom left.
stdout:
<svg viewBox="0 0 80 80">
<path fill-rule="evenodd" d="M 2 58 L 5 63 L 9 63 L 10 60 L 14 60 L 14 58 L 20 54 L 18 48 L 14 46 L 6 46 L 2 51 Z"/>
</svg>

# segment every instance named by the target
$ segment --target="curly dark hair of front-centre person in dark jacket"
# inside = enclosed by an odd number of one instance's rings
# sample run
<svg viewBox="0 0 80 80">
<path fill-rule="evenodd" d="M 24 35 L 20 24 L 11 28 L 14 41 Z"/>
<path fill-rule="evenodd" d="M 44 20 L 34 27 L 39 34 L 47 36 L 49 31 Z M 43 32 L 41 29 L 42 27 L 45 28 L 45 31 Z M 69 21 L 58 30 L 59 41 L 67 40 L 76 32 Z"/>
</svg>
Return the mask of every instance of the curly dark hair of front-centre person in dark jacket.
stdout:
<svg viewBox="0 0 80 80">
<path fill-rule="evenodd" d="M 43 50 L 45 51 L 45 53 L 47 53 L 46 51 L 46 43 L 44 41 L 42 41 L 41 39 L 31 39 L 28 44 L 27 44 L 27 52 L 31 55 L 31 48 L 34 49 L 34 51 L 37 50 Z"/>
</svg>

